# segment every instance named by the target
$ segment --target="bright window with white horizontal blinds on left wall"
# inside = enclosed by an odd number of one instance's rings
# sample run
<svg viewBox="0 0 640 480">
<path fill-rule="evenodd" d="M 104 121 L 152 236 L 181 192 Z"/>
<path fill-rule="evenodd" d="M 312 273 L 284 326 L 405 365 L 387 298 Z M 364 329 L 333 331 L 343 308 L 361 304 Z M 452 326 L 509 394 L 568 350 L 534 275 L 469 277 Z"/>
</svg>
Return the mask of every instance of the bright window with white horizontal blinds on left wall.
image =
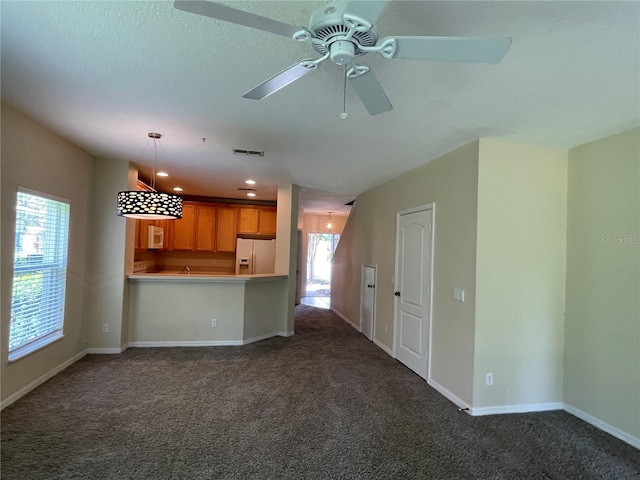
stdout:
<svg viewBox="0 0 640 480">
<path fill-rule="evenodd" d="M 68 243 L 69 202 L 20 188 L 9 360 L 62 337 Z"/>
</svg>

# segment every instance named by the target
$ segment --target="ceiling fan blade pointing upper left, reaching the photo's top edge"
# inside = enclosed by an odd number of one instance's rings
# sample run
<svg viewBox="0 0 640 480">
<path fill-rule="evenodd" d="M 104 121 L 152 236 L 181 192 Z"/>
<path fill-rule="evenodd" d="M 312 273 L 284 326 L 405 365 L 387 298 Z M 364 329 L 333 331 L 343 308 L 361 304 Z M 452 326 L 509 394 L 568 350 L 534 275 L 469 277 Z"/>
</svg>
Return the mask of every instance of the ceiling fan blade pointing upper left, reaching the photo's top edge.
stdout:
<svg viewBox="0 0 640 480">
<path fill-rule="evenodd" d="M 217 18 L 218 20 L 244 25 L 245 27 L 257 28 L 258 30 L 264 30 L 289 38 L 301 30 L 300 27 L 295 25 L 237 10 L 215 2 L 207 2 L 204 0 L 175 0 L 173 6 L 185 12 Z"/>
</svg>

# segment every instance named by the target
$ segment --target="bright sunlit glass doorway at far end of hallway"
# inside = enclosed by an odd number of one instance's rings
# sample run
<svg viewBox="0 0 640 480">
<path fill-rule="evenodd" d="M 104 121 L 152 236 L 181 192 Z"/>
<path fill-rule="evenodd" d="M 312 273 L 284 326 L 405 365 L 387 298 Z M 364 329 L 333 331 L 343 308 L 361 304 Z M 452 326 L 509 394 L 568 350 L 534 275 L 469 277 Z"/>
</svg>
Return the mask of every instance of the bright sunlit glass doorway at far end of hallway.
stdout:
<svg viewBox="0 0 640 480">
<path fill-rule="evenodd" d="M 340 234 L 309 233 L 307 237 L 307 278 L 302 303 L 331 307 L 331 259 Z"/>
</svg>

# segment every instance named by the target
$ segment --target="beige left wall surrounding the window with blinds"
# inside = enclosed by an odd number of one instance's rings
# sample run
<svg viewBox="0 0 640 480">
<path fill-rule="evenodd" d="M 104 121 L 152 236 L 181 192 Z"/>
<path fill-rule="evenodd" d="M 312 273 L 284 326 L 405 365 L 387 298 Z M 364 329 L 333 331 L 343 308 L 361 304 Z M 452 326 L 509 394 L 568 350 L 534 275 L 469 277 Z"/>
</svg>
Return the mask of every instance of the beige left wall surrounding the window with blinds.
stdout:
<svg viewBox="0 0 640 480">
<path fill-rule="evenodd" d="M 19 396 L 87 348 L 89 242 L 94 159 L 2 104 L 2 401 Z M 64 338 L 15 362 L 7 361 L 18 186 L 71 201 Z M 112 210 L 113 211 L 113 210 Z M 13 397 L 12 397 L 13 396 Z"/>
</svg>

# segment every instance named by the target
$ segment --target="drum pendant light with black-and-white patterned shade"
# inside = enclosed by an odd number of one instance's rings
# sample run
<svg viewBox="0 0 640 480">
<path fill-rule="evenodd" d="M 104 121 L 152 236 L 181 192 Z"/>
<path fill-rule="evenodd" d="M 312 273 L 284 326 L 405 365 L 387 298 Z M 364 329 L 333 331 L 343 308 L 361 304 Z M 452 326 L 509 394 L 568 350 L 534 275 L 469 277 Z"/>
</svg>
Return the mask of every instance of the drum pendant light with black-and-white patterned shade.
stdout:
<svg viewBox="0 0 640 480">
<path fill-rule="evenodd" d="M 153 139 L 154 160 L 151 171 L 151 191 L 130 190 L 118 192 L 116 211 L 119 216 L 140 220 L 177 220 L 182 218 L 182 197 L 173 193 L 156 192 L 156 163 L 162 135 L 149 133 Z"/>
</svg>

